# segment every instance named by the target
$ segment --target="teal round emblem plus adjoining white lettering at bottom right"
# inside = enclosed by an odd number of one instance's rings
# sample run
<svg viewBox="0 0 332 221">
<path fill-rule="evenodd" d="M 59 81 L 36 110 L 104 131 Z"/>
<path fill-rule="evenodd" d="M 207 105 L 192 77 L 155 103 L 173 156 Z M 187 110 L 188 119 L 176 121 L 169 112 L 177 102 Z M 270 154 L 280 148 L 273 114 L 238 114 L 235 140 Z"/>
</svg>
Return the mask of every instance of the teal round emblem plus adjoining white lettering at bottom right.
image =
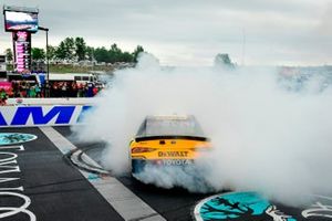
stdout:
<svg viewBox="0 0 332 221">
<path fill-rule="evenodd" d="M 301 208 L 271 203 L 257 192 L 229 192 L 201 200 L 195 207 L 198 221 L 271 220 L 271 221 L 330 221 L 332 197 L 311 194 L 311 202 Z"/>
</svg>

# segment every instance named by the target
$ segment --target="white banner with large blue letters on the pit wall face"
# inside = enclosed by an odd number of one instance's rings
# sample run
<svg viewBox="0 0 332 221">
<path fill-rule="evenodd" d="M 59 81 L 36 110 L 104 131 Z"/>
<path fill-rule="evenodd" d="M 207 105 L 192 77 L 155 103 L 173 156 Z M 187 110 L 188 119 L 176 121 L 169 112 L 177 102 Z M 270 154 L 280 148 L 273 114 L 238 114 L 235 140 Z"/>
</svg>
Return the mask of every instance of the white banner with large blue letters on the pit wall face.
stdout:
<svg viewBox="0 0 332 221">
<path fill-rule="evenodd" d="M 86 105 L 1 106 L 0 127 L 66 126 L 82 123 Z"/>
</svg>

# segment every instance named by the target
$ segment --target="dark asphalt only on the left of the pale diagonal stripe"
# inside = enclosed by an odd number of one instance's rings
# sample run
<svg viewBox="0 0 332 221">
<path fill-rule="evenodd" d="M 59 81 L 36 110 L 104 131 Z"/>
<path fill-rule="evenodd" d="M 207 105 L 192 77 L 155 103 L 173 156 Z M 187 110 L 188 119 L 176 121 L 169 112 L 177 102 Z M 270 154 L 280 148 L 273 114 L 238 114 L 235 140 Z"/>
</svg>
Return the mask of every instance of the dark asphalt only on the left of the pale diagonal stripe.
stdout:
<svg viewBox="0 0 332 221">
<path fill-rule="evenodd" d="M 20 178 L 23 193 L 30 197 L 28 209 L 35 214 L 37 220 L 123 220 L 39 128 L 1 129 L 1 133 L 4 131 L 38 136 L 38 139 L 23 144 L 25 150 L 18 154 L 21 172 L 13 175 Z M 21 201 L 13 197 L 0 198 L 1 207 L 20 207 Z M 18 212 L 3 220 L 30 219 Z"/>
</svg>

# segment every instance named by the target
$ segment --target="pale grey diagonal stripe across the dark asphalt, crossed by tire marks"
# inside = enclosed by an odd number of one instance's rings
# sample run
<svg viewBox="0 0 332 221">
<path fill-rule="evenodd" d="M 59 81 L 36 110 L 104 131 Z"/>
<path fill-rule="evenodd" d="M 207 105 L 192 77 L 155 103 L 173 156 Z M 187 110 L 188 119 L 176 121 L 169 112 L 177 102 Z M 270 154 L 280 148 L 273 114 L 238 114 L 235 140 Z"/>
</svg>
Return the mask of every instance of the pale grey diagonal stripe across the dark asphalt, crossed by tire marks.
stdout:
<svg viewBox="0 0 332 221">
<path fill-rule="evenodd" d="M 71 141 L 63 137 L 52 127 L 40 127 L 40 130 L 58 147 L 63 154 L 76 149 Z M 84 156 L 90 158 L 89 156 Z M 93 159 L 91 159 L 94 161 Z M 95 165 L 97 162 L 94 161 Z M 80 169 L 79 169 L 80 170 Z M 87 181 L 103 196 L 103 198 L 115 209 L 118 214 L 131 221 L 166 221 L 159 213 L 152 209 L 141 198 L 128 190 L 116 178 L 105 176 L 103 179 L 89 179 L 90 172 L 80 170 Z"/>
</svg>

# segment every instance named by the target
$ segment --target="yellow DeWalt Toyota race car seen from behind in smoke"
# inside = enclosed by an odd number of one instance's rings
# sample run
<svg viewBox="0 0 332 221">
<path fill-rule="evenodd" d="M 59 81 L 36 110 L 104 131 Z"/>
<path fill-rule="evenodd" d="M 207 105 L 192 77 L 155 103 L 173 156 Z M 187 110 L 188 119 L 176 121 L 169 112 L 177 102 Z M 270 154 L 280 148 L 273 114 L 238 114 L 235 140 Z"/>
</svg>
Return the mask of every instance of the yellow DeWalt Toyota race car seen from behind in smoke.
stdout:
<svg viewBox="0 0 332 221">
<path fill-rule="evenodd" d="M 211 148 L 191 115 L 147 116 L 131 141 L 132 175 L 148 167 L 186 167 Z"/>
</svg>

